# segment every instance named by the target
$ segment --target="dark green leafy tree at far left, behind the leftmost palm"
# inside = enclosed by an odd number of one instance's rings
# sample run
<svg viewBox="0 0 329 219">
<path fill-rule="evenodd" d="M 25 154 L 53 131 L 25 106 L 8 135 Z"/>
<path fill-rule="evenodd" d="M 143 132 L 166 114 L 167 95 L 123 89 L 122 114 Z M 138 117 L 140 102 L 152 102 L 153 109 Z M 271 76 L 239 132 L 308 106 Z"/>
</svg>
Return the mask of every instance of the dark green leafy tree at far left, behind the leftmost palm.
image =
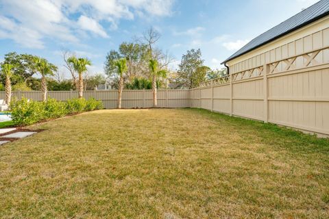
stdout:
<svg viewBox="0 0 329 219">
<path fill-rule="evenodd" d="M 34 59 L 35 55 L 17 54 L 16 52 L 8 53 L 5 55 L 3 64 L 12 64 L 12 81 L 14 84 L 20 81 L 26 82 L 27 79 L 37 73 Z"/>
</svg>

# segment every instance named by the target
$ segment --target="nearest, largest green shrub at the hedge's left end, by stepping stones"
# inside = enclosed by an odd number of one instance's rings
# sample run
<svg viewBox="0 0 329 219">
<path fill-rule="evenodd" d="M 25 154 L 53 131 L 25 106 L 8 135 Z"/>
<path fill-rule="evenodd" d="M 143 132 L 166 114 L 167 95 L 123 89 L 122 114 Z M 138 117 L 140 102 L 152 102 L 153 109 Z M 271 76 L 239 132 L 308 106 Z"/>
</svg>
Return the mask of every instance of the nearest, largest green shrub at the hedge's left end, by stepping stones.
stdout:
<svg viewBox="0 0 329 219">
<path fill-rule="evenodd" d="M 10 102 L 12 121 L 17 125 L 31 125 L 45 118 L 44 103 L 13 99 Z"/>
</svg>

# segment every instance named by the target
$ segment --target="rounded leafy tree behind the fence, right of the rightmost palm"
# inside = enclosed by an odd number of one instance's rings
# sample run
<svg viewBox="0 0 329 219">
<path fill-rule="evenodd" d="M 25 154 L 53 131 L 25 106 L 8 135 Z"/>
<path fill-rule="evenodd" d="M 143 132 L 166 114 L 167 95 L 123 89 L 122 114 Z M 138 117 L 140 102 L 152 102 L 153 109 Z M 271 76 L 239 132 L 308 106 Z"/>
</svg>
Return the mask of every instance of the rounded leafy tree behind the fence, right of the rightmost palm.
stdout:
<svg viewBox="0 0 329 219">
<path fill-rule="evenodd" d="M 206 80 L 207 68 L 204 66 L 201 50 L 191 49 L 182 56 L 178 65 L 178 78 L 186 88 L 195 88 Z"/>
</svg>

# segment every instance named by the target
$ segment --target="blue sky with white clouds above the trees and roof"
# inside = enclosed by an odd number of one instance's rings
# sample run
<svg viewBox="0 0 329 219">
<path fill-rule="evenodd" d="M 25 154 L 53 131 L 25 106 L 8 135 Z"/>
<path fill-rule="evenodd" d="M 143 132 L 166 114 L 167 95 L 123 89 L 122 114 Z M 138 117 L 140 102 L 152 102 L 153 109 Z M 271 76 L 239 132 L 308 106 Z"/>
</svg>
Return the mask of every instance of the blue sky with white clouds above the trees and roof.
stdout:
<svg viewBox="0 0 329 219">
<path fill-rule="evenodd" d="M 252 38 L 317 0 L 0 0 L 0 61 L 10 51 L 32 53 L 62 68 L 61 51 L 89 57 L 103 72 L 106 53 L 153 26 L 158 47 L 175 57 L 202 49 L 220 62 Z"/>
</svg>

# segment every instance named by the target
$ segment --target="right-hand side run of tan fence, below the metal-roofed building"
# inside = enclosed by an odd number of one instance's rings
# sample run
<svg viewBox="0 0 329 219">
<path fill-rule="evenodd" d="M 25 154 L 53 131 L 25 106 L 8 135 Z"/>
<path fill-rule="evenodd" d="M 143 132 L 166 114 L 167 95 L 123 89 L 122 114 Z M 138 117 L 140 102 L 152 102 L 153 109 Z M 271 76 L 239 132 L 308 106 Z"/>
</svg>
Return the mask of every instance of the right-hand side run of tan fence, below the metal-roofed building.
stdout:
<svg viewBox="0 0 329 219">
<path fill-rule="evenodd" d="M 329 47 L 202 83 L 191 106 L 329 135 Z"/>
</svg>

